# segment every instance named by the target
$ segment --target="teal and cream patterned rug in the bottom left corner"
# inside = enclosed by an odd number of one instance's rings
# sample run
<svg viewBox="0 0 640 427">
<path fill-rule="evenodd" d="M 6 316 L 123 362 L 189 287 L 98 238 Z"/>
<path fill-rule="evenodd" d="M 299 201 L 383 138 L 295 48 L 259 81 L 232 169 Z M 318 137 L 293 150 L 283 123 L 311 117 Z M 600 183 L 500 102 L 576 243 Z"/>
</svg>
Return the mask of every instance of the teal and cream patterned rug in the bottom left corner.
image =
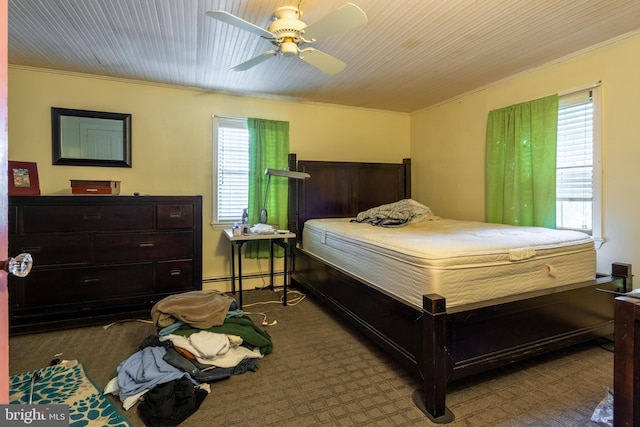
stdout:
<svg viewBox="0 0 640 427">
<path fill-rule="evenodd" d="M 129 421 L 87 376 L 78 360 L 63 360 L 31 372 L 9 378 L 9 403 L 28 404 L 31 378 L 37 374 L 31 403 L 69 405 L 69 425 L 130 427 Z"/>
</svg>

